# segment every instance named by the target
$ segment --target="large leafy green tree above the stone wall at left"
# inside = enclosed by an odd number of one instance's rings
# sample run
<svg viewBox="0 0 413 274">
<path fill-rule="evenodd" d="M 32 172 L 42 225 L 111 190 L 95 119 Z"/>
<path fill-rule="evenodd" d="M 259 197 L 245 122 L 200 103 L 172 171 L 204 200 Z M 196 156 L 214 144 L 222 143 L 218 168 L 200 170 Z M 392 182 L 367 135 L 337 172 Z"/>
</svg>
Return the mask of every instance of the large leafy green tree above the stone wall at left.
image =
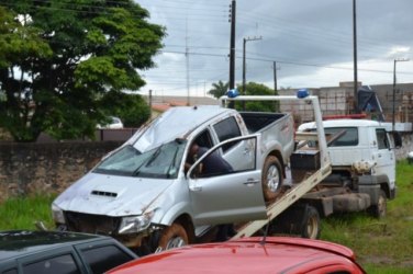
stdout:
<svg viewBox="0 0 413 274">
<path fill-rule="evenodd" d="M 107 98 L 145 84 L 137 70 L 165 36 L 133 0 L 1 2 L 0 127 L 18 141 L 92 137 Z"/>
</svg>

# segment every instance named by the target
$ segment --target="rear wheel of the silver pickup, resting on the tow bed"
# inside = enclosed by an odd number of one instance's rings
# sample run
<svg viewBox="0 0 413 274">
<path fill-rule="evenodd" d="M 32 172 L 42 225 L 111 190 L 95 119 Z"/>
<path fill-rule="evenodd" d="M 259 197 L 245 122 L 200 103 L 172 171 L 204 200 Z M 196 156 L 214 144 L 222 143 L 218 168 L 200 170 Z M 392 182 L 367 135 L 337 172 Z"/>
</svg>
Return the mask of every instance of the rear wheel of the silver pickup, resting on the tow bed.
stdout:
<svg viewBox="0 0 413 274">
<path fill-rule="evenodd" d="M 263 194 L 266 202 L 275 199 L 282 185 L 281 163 L 275 156 L 267 157 L 263 168 Z"/>
</svg>

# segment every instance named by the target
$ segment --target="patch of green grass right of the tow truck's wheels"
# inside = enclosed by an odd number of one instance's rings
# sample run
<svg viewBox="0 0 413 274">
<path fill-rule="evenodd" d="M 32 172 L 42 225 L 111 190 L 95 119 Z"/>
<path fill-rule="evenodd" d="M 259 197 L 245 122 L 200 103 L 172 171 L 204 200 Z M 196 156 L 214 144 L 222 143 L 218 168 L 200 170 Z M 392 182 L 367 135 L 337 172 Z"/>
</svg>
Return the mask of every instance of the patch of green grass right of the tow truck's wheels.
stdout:
<svg viewBox="0 0 413 274">
<path fill-rule="evenodd" d="M 321 238 L 353 249 L 368 273 L 413 273 L 413 164 L 398 162 L 397 184 L 386 218 L 358 213 L 322 222 Z"/>
</svg>

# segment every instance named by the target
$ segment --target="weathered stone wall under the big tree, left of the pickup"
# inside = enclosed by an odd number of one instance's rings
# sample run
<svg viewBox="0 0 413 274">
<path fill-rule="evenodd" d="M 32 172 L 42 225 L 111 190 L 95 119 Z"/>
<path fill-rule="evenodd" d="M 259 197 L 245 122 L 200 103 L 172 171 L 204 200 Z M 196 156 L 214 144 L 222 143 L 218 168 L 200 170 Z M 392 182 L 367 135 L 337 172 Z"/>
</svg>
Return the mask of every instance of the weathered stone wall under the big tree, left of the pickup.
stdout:
<svg viewBox="0 0 413 274">
<path fill-rule="evenodd" d="M 16 195 L 60 193 L 122 144 L 0 144 L 0 203 Z"/>
</svg>

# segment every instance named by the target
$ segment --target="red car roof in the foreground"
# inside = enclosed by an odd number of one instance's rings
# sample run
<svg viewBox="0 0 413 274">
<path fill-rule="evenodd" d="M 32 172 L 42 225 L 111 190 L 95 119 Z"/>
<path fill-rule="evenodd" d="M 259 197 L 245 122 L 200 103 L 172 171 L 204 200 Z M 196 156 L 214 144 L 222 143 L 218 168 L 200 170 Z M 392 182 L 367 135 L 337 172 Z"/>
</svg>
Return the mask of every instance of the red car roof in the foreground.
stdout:
<svg viewBox="0 0 413 274">
<path fill-rule="evenodd" d="M 109 271 L 126 273 L 366 273 L 343 246 L 302 238 L 244 238 L 186 246 Z"/>
</svg>

